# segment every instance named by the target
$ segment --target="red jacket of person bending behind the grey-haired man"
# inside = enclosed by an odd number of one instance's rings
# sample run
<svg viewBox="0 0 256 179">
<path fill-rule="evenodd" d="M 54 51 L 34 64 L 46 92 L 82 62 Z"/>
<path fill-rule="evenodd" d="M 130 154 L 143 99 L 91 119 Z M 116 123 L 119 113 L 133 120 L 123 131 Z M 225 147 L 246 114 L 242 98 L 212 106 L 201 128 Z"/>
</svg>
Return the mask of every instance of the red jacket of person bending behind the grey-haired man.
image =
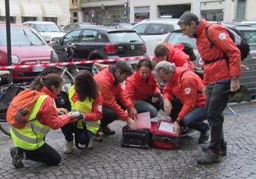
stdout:
<svg viewBox="0 0 256 179">
<path fill-rule="evenodd" d="M 165 45 L 169 51 L 167 61 L 174 63 L 176 67 L 185 67 L 189 70 L 194 69 L 193 62 L 190 61 L 189 56 L 183 52 L 183 49 L 184 49 L 183 44 L 173 45 L 173 44 L 165 43 Z"/>
</svg>

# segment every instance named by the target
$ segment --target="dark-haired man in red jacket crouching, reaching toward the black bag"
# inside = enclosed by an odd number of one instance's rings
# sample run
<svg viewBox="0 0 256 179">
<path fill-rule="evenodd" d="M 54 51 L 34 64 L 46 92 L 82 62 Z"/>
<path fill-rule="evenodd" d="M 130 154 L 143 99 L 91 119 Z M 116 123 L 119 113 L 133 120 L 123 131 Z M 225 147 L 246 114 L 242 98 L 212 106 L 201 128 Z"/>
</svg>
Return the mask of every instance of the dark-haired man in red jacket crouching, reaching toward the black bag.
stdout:
<svg viewBox="0 0 256 179">
<path fill-rule="evenodd" d="M 136 128 L 134 119 L 137 119 L 137 110 L 121 86 L 122 82 L 132 74 L 131 64 L 126 61 L 117 61 L 116 64 L 108 66 L 94 76 L 104 100 L 101 131 L 105 135 L 115 134 L 115 131 L 111 131 L 108 124 L 116 119 L 126 121 L 131 129 Z M 125 112 L 125 109 L 128 110 L 129 114 Z"/>
</svg>

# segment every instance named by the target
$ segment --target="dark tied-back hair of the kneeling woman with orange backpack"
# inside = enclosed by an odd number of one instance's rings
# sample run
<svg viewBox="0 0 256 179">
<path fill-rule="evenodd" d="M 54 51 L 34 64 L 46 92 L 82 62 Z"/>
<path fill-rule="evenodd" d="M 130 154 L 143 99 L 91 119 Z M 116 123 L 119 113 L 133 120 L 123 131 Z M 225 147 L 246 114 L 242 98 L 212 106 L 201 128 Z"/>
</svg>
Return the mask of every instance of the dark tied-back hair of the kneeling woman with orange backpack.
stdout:
<svg viewBox="0 0 256 179">
<path fill-rule="evenodd" d="M 48 74 L 46 76 L 37 77 L 31 84 L 30 89 L 37 90 L 39 92 L 42 91 L 42 87 L 47 87 L 47 89 L 51 90 L 51 86 L 56 88 L 61 87 L 63 83 L 62 78 L 54 73 Z"/>
</svg>

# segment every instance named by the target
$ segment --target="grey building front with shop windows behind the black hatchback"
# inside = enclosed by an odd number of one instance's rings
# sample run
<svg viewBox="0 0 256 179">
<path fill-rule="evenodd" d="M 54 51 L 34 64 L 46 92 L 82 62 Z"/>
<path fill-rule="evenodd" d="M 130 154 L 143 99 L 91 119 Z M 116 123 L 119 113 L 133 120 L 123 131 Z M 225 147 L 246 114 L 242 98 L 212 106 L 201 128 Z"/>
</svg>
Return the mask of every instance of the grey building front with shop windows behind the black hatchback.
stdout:
<svg viewBox="0 0 256 179">
<path fill-rule="evenodd" d="M 129 22 L 128 0 L 81 0 L 83 21 L 96 24 Z"/>
</svg>

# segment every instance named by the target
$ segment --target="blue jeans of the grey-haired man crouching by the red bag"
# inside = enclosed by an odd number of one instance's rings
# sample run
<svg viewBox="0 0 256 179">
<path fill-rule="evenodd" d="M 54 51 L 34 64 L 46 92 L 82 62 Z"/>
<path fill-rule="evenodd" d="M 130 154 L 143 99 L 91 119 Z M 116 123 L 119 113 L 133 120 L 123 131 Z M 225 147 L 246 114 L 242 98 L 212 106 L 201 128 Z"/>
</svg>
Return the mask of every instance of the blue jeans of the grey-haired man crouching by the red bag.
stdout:
<svg viewBox="0 0 256 179">
<path fill-rule="evenodd" d="M 205 107 L 197 107 L 191 112 L 189 112 L 185 118 L 183 118 L 184 126 L 188 126 L 191 129 L 196 129 L 200 132 L 206 132 L 209 130 L 209 125 L 203 123 L 206 120 L 206 110 Z"/>
</svg>

